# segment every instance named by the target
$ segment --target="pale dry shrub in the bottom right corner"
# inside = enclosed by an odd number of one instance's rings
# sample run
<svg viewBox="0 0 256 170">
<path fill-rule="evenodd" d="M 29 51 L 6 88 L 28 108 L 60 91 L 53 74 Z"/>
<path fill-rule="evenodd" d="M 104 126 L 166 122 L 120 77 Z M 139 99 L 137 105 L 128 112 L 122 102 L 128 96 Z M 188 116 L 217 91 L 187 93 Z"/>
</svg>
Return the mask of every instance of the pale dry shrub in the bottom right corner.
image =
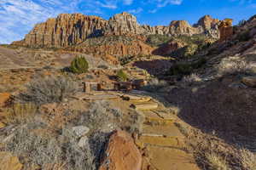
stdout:
<svg viewBox="0 0 256 170">
<path fill-rule="evenodd" d="M 247 170 L 256 169 L 256 155 L 249 150 L 240 150 L 241 165 Z"/>
</svg>

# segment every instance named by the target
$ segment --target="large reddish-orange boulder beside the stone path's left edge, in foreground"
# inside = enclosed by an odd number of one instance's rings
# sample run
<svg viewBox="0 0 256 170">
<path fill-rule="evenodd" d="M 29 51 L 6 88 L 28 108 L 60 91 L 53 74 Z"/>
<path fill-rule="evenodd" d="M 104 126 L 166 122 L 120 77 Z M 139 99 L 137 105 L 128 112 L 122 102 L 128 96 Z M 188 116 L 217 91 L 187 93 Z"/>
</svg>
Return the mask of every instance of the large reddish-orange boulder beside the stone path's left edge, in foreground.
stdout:
<svg viewBox="0 0 256 170">
<path fill-rule="evenodd" d="M 108 142 L 108 149 L 100 170 L 140 170 L 142 156 L 129 133 L 114 132 Z"/>
</svg>

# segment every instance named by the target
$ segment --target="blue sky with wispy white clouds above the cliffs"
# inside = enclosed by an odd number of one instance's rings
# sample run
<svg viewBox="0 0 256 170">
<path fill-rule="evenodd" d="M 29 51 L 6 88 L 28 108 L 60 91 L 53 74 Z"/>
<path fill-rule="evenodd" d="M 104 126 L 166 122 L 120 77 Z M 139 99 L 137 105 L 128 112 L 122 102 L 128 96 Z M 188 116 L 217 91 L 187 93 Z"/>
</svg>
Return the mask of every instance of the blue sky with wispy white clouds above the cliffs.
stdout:
<svg viewBox="0 0 256 170">
<path fill-rule="evenodd" d="M 237 23 L 256 14 L 256 0 L 0 0 L 0 43 L 22 39 L 36 23 L 57 14 L 93 14 L 108 20 L 123 11 L 150 26 L 167 26 L 172 20 L 194 24 L 205 14 Z"/>
</svg>

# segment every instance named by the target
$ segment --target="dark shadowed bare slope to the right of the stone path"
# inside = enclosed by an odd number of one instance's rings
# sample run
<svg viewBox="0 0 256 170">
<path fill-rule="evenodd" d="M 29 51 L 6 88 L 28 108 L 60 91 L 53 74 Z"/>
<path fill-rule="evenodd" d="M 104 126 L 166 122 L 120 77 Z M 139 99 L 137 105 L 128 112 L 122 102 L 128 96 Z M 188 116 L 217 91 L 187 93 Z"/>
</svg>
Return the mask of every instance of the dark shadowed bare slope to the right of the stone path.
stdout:
<svg viewBox="0 0 256 170">
<path fill-rule="evenodd" d="M 256 150 L 256 90 L 231 88 L 232 79 L 205 88 L 176 88 L 165 99 L 180 108 L 178 116 L 205 133 Z"/>
</svg>

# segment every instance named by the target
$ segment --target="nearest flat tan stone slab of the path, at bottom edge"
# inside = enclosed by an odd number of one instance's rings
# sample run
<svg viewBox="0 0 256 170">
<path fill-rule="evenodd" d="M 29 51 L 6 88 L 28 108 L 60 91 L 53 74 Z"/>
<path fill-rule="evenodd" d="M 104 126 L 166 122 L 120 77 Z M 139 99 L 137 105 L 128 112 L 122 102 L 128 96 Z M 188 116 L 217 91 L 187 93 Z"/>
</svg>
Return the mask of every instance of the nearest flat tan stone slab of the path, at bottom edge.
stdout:
<svg viewBox="0 0 256 170">
<path fill-rule="evenodd" d="M 183 150 L 148 146 L 149 166 L 160 170 L 200 170 L 194 156 Z M 148 170 L 148 166 L 143 167 Z"/>
</svg>

